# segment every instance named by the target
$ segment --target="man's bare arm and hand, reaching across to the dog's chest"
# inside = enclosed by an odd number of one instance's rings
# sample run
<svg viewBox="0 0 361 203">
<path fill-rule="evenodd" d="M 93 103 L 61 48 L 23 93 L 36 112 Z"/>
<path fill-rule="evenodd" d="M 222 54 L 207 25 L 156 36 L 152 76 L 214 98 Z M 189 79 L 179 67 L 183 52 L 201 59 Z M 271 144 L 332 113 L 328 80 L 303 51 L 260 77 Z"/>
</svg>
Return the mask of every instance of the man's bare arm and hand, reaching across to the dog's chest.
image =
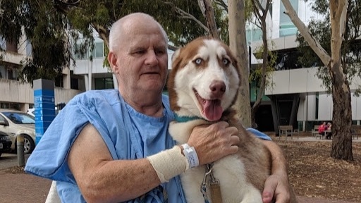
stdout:
<svg viewBox="0 0 361 203">
<path fill-rule="evenodd" d="M 208 164 L 238 151 L 235 144 L 239 139 L 232 136 L 236 133 L 236 128 L 228 128 L 228 123 L 220 122 L 193 130 L 188 144 L 197 149 L 200 165 Z M 212 153 L 209 153 L 210 149 L 213 149 Z M 158 154 L 161 153 L 164 152 Z M 179 153 L 181 154 L 181 148 Z M 179 161 L 185 161 L 183 155 L 179 157 L 170 161 L 169 166 L 160 168 L 160 172 Z M 157 160 L 159 159 L 155 161 Z M 68 166 L 87 202 L 124 202 L 140 197 L 161 183 L 161 178 L 149 159 L 113 160 L 101 135 L 90 124 L 82 129 L 73 143 L 68 155 Z M 166 171 L 168 176 L 170 171 L 172 170 Z M 182 172 L 184 171 L 185 168 Z M 177 176 L 182 172 L 170 173 Z"/>
</svg>

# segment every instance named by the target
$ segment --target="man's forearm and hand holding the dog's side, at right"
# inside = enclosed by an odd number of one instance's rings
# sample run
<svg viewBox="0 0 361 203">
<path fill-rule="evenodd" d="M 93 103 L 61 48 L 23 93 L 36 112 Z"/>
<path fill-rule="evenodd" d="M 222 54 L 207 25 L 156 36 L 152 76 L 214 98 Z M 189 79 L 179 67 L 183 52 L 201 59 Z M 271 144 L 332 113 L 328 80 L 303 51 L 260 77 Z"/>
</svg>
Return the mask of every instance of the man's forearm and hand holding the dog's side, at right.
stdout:
<svg viewBox="0 0 361 203">
<path fill-rule="evenodd" d="M 269 203 L 276 199 L 277 203 L 290 202 L 290 184 L 288 183 L 287 162 L 282 149 L 276 143 L 263 140 L 264 145 L 271 152 L 272 170 L 271 176 L 264 183 L 262 199 Z"/>
</svg>

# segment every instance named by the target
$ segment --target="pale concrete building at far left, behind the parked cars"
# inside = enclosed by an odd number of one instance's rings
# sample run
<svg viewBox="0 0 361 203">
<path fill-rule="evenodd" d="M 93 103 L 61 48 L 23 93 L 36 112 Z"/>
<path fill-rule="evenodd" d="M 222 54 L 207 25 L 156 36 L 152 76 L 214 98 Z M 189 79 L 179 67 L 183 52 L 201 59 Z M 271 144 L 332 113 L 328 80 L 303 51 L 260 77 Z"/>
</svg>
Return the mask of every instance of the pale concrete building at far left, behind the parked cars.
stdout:
<svg viewBox="0 0 361 203">
<path fill-rule="evenodd" d="M 17 70 L 21 61 L 30 56 L 31 47 L 25 39 L 20 39 L 20 45 L 6 42 L 0 37 L 2 59 L 0 59 L 0 109 L 17 109 L 26 112 L 34 107 L 34 90 L 30 83 L 18 80 Z M 54 81 L 55 104 L 67 103 L 80 92 L 84 92 L 82 78 L 72 74 L 65 68 L 61 78 Z"/>
</svg>

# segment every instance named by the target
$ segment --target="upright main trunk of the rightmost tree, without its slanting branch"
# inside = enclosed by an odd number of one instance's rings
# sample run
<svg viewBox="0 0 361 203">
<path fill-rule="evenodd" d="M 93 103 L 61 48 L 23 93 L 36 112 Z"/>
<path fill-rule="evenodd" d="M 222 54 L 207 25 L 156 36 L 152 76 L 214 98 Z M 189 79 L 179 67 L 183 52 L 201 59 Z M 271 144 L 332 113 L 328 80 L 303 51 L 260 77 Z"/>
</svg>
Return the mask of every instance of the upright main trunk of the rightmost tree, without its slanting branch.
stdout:
<svg viewBox="0 0 361 203">
<path fill-rule="evenodd" d="M 343 73 L 345 67 L 341 66 L 341 45 L 345 32 L 347 5 L 346 0 L 330 1 L 332 61 L 329 64 L 329 72 L 332 80 L 332 100 L 334 101 L 332 123 L 336 127 L 332 129 L 334 140 L 332 140 L 331 157 L 353 161 L 350 85 Z"/>
</svg>

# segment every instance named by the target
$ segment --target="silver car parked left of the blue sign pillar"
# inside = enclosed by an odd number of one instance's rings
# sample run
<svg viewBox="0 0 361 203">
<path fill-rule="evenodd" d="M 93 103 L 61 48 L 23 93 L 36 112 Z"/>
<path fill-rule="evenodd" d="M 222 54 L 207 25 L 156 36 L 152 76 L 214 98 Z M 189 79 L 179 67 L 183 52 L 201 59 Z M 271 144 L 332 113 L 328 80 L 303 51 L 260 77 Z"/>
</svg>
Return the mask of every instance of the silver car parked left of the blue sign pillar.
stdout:
<svg viewBox="0 0 361 203">
<path fill-rule="evenodd" d="M 0 109 L 0 131 L 10 135 L 11 150 L 16 149 L 16 138 L 24 136 L 24 154 L 35 148 L 35 118 L 23 111 Z"/>
</svg>

